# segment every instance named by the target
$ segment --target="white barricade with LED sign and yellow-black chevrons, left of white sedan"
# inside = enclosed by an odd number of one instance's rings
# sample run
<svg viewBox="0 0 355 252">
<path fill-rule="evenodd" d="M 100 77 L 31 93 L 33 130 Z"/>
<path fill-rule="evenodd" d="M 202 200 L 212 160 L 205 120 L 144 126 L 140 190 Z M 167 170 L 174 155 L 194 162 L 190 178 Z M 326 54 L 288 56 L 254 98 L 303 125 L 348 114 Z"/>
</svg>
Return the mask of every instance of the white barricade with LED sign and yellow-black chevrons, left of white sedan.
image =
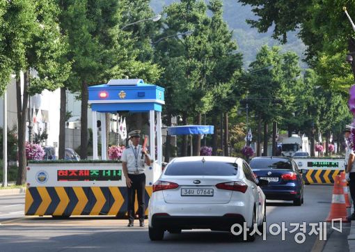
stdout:
<svg viewBox="0 0 355 252">
<path fill-rule="evenodd" d="M 160 174 L 157 164 L 146 168 L 145 214 Z M 29 164 L 26 175 L 26 216 L 127 215 L 127 187 L 118 162 Z"/>
</svg>

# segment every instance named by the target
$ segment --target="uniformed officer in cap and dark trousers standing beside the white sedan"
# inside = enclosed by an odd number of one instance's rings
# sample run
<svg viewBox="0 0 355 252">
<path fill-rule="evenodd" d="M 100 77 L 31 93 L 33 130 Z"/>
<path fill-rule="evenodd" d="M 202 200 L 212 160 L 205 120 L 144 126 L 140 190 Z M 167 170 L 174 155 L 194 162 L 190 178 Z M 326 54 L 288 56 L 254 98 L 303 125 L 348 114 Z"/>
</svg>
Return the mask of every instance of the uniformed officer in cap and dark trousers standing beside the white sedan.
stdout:
<svg viewBox="0 0 355 252">
<path fill-rule="evenodd" d="M 134 221 L 134 200 L 137 193 L 139 226 L 144 226 L 145 217 L 145 164 L 150 166 L 150 157 L 147 150 L 143 150 L 139 145 L 141 131 L 129 132 L 128 138 L 132 145 L 123 150 L 121 161 L 123 164 L 123 174 L 127 185 L 127 212 L 128 227 L 133 226 Z"/>
</svg>

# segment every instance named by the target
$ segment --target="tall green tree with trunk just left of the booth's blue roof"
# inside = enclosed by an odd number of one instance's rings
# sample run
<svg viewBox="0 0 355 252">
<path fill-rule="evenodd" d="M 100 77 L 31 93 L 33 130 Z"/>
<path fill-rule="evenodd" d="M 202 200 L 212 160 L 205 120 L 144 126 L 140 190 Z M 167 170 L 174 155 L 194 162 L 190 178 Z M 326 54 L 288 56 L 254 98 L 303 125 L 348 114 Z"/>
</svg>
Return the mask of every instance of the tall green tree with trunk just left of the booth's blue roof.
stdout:
<svg viewBox="0 0 355 252">
<path fill-rule="evenodd" d="M 87 158 L 88 86 L 103 82 L 110 68 L 114 45 L 113 28 L 117 25 L 117 1 L 66 1 L 62 4 L 61 29 L 68 36 L 73 61 L 68 86 L 81 93 L 81 150 Z"/>
</svg>

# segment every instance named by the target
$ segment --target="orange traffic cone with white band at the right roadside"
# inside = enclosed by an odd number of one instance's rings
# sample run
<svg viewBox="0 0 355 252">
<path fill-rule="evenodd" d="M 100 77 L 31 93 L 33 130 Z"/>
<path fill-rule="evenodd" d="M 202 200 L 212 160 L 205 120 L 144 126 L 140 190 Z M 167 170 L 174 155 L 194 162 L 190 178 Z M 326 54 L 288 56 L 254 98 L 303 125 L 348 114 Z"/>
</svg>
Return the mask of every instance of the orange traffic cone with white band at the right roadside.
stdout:
<svg viewBox="0 0 355 252">
<path fill-rule="evenodd" d="M 344 191 L 342 188 L 342 180 L 340 175 L 334 180 L 333 196 L 331 198 L 331 212 L 329 212 L 326 221 L 331 222 L 332 219 L 342 219 L 342 222 L 347 221 L 347 207 L 345 205 Z"/>
</svg>

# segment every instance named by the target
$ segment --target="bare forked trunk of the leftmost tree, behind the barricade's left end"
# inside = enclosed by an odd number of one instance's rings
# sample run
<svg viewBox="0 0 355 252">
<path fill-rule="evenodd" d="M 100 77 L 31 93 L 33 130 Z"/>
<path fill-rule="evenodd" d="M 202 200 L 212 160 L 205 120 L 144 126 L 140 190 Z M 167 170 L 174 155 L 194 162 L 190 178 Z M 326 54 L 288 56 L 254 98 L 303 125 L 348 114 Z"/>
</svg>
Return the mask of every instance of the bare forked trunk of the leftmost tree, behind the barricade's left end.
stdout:
<svg viewBox="0 0 355 252">
<path fill-rule="evenodd" d="M 21 94 L 21 81 L 19 72 L 16 73 L 16 97 L 17 97 L 17 127 L 18 127 L 18 155 L 19 169 L 17 171 L 16 184 L 21 185 L 26 182 L 26 118 L 27 103 L 29 102 L 29 71 L 24 72 L 24 93 Z"/>
</svg>

